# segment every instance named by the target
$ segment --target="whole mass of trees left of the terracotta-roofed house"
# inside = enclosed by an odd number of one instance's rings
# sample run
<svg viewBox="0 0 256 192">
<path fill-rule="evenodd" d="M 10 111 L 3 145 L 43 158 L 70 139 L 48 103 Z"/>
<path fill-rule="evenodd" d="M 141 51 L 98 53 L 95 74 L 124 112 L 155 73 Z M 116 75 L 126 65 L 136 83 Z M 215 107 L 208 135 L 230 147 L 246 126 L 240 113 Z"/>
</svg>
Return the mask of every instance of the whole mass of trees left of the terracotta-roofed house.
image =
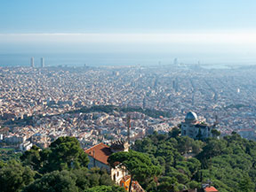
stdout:
<svg viewBox="0 0 256 192">
<path fill-rule="evenodd" d="M 33 146 L 20 161 L 0 161 L 1 192 L 124 192 L 108 173 L 88 170 L 89 158 L 74 137 L 60 137 L 48 149 Z"/>
</svg>

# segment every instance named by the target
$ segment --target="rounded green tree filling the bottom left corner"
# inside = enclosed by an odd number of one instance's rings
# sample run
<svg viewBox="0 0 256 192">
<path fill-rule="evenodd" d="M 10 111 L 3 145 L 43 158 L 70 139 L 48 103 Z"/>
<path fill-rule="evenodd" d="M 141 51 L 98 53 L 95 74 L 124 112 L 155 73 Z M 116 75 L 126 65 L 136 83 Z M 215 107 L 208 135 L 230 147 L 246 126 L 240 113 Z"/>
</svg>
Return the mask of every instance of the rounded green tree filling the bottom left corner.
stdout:
<svg viewBox="0 0 256 192">
<path fill-rule="evenodd" d="M 19 162 L 11 160 L 0 169 L 0 186 L 2 192 L 18 192 L 33 182 L 35 173 Z"/>
</svg>

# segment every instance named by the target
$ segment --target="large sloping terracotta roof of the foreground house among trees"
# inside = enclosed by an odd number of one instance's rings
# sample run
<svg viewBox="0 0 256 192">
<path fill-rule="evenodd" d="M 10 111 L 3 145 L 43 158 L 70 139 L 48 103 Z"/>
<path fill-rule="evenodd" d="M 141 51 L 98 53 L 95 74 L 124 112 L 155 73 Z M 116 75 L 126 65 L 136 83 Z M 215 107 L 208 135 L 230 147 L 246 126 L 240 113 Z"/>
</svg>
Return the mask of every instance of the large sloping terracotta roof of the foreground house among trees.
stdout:
<svg viewBox="0 0 256 192">
<path fill-rule="evenodd" d="M 108 165 L 108 157 L 112 154 L 110 147 L 102 142 L 84 152 L 106 165 Z"/>
</svg>

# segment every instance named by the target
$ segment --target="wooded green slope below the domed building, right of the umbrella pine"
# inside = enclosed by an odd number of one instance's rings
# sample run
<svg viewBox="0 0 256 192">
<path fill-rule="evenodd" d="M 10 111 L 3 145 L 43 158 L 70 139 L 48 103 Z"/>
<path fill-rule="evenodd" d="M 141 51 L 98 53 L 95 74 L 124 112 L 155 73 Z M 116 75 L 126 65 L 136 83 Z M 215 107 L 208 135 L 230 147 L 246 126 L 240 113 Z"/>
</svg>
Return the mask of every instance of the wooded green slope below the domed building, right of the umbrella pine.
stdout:
<svg viewBox="0 0 256 192">
<path fill-rule="evenodd" d="M 256 191 L 256 142 L 239 134 L 201 142 L 180 137 L 174 129 L 169 135 L 149 135 L 132 148 L 162 167 L 157 180 L 140 183 L 147 191 L 199 188 L 208 180 L 220 192 Z"/>
</svg>

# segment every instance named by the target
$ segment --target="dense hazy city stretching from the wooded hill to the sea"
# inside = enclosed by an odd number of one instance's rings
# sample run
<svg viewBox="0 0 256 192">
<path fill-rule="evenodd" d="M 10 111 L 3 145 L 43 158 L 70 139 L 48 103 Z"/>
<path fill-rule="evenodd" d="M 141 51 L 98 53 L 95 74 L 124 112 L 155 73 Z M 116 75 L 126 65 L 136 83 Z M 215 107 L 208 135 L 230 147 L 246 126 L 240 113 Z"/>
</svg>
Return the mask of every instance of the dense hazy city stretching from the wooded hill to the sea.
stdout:
<svg viewBox="0 0 256 192">
<path fill-rule="evenodd" d="M 175 62 L 1 67 L 0 143 L 21 150 L 32 144 L 45 148 L 68 135 L 75 136 L 84 149 L 99 142 L 109 144 L 125 140 L 128 113 L 134 142 L 154 131 L 168 134 L 188 111 L 195 111 L 200 122 L 217 127 L 221 135 L 236 131 L 255 140 L 255 66 L 212 69 Z M 109 105 L 138 110 L 93 111 L 95 106 Z M 147 110 L 163 111 L 163 115 Z"/>
</svg>

